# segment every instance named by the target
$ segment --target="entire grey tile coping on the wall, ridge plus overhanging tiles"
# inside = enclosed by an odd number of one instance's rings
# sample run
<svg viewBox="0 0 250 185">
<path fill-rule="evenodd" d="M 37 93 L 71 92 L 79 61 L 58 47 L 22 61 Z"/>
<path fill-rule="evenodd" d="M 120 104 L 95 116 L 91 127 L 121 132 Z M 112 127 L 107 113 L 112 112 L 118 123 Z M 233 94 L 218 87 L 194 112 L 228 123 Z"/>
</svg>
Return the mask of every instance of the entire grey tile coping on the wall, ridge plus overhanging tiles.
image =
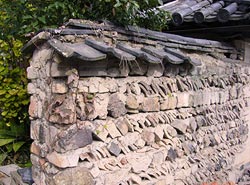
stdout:
<svg viewBox="0 0 250 185">
<path fill-rule="evenodd" d="M 100 35 L 101 34 L 101 35 Z M 81 42 L 64 42 L 60 36 L 85 35 Z M 107 43 L 103 37 L 115 39 Z M 138 27 L 119 28 L 110 24 L 86 24 L 80 20 L 71 20 L 62 29 L 46 29 L 33 37 L 23 48 L 34 49 L 48 42 L 65 58 L 77 58 L 83 61 L 100 61 L 108 56 L 124 61 L 143 60 L 151 64 L 161 64 L 163 60 L 172 64 L 185 62 L 194 66 L 201 65 L 180 49 L 200 50 L 203 52 L 235 53 L 232 46 L 204 39 L 194 39 Z M 134 47 L 134 43 L 137 45 Z"/>
</svg>

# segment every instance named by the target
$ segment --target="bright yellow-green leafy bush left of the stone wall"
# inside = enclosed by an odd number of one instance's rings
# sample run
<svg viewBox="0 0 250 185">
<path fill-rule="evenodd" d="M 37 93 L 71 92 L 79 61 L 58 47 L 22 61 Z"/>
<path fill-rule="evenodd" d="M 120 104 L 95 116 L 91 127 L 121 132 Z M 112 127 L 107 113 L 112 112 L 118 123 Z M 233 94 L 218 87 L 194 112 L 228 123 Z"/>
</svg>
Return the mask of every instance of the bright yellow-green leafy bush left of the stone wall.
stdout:
<svg viewBox="0 0 250 185">
<path fill-rule="evenodd" d="M 0 107 L 0 127 L 24 123 L 28 117 L 27 111 L 21 112 L 29 103 L 25 71 L 13 61 L 20 57 L 22 43 L 13 39 L 11 44 L 12 47 L 0 40 L 0 104 L 3 105 Z"/>
</svg>

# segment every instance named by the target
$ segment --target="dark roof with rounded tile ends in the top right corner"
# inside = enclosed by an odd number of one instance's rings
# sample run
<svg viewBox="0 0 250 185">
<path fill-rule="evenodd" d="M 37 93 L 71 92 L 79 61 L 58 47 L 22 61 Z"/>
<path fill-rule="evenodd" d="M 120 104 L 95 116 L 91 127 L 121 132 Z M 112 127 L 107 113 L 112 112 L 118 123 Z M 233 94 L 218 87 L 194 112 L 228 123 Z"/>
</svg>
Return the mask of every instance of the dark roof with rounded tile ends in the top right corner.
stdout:
<svg viewBox="0 0 250 185">
<path fill-rule="evenodd" d="M 229 22 L 249 20 L 249 0 L 175 0 L 159 7 L 172 15 L 172 22 Z"/>
</svg>

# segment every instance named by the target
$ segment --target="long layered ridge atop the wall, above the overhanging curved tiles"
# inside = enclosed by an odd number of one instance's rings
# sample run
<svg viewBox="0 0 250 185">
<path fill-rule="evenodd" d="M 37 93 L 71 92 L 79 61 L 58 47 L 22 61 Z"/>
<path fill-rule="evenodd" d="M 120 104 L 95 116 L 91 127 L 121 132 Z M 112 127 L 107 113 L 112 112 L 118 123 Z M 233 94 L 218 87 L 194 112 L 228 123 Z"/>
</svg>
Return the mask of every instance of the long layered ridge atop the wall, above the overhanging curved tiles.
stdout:
<svg viewBox="0 0 250 185">
<path fill-rule="evenodd" d="M 45 32 L 46 34 L 40 34 Z M 188 49 L 188 50 L 197 50 L 205 52 L 236 52 L 235 48 L 229 43 L 207 40 L 207 39 L 197 39 L 191 37 L 184 37 L 180 35 L 157 32 L 145 28 L 140 28 L 137 26 L 127 26 L 127 27 L 118 27 L 109 22 L 92 22 L 85 20 L 69 20 L 64 26 L 57 29 L 43 29 L 33 37 L 23 48 L 23 51 L 28 51 L 30 47 L 33 47 L 36 42 L 43 42 L 54 38 L 56 36 L 65 36 L 65 35 L 92 35 L 97 36 L 103 34 L 103 32 L 108 32 L 109 37 L 137 42 L 141 44 L 150 44 L 150 41 L 155 42 L 155 44 L 161 44 L 170 48 L 179 48 L 179 49 Z M 122 37 L 119 38 L 119 36 Z"/>
</svg>

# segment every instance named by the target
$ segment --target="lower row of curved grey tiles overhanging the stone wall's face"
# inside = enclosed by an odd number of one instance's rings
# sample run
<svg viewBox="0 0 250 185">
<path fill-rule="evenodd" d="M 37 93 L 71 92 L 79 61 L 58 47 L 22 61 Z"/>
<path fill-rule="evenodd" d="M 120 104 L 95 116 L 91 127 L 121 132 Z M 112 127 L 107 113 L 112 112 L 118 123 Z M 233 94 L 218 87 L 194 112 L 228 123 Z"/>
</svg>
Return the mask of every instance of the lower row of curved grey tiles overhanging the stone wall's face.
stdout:
<svg viewBox="0 0 250 185">
<path fill-rule="evenodd" d="M 152 64 L 161 64 L 166 60 L 172 64 L 189 62 L 192 65 L 201 65 L 200 61 L 192 60 L 181 51 L 145 46 L 133 48 L 125 43 L 118 43 L 116 47 L 107 45 L 92 39 L 86 39 L 84 43 L 63 43 L 59 40 L 49 40 L 49 44 L 65 58 L 78 58 L 83 61 L 99 61 L 112 56 L 118 60 L 136 61 L 143 60 Z"/>
</svg>

